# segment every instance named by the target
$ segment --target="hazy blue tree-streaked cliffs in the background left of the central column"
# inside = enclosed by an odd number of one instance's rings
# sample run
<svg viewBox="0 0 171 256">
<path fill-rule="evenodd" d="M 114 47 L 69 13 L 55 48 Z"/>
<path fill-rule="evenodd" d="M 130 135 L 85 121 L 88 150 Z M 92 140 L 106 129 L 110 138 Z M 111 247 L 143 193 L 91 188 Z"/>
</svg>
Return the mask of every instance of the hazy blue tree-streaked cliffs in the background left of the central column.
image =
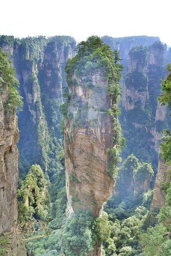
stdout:
<svg viewBox="0 0 171 256">
<path fill-rule="evenodd" d="M 16 69 L 24 102 L 23 111 L 17 113 L 21 175 L 35 163 L 49 170 L 54 150 L 54 146 L 49 146 L 50 140 L 60 138 L 57 124 L 61 119 L 62 87 L 66 85 L 64 66 L 74 54 L 75 40 L 58 36 L 21 40 L 1 36 L 0 46 L 8 52 Z"/>
</svg>

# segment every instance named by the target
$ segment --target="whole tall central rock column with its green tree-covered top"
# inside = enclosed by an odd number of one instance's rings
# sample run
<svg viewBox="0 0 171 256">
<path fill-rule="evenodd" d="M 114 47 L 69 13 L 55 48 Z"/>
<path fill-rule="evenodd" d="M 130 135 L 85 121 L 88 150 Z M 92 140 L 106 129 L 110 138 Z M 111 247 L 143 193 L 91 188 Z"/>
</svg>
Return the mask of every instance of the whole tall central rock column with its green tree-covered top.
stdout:
<svg viewBox="0 0 171 256">
<path fill-rule="evenodd" d="M 85 48 L 82 46 L 66 66 L 68 91 L 63 113 L 67 210 L 70 214 L 88 209 L 98 217 L 115 185 L 121 143 L 116 117 L 121 74 L 109 46 L 96 37 L 84 43 Z M 87 255 L 100 256 L 101 241 Z"/>
</svg>

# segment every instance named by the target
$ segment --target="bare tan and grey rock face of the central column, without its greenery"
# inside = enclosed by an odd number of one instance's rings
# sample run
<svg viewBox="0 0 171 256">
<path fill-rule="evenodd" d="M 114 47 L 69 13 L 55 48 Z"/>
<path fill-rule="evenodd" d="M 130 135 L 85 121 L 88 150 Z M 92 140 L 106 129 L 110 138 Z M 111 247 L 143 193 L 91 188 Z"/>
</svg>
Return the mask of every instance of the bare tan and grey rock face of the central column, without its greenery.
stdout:
<svg viewBox="0 0 171 256">
<path fill-rule="evenodd" d="M 81 86 L 69 85 L 74 96 L 69 105 L 73 118 L 64 121 L 66 187 L 70 212 L 90 209 L 99 216 L 114 186 L 106 172 L 114 133 L 106 113 L 110 100 L 104 75 L 96 73 L 90 81 L 96 89 L 87 88 L 82 81 Z M 72 106 L 73 102 L 79 105 Z"/>
</svg>

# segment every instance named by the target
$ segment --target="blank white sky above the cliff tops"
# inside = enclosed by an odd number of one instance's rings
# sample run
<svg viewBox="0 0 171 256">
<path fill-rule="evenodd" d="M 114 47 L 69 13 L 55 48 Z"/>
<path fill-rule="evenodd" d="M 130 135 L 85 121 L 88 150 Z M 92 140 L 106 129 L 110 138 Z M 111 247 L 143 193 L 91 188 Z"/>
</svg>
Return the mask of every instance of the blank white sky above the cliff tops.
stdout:
<svg viewBox="0 0 171 256">
<path fill-rule="evenodd" d="M 0 34 L 159 36 L 171 46 L 170 0 L 1 0 Z"/>
</svg>

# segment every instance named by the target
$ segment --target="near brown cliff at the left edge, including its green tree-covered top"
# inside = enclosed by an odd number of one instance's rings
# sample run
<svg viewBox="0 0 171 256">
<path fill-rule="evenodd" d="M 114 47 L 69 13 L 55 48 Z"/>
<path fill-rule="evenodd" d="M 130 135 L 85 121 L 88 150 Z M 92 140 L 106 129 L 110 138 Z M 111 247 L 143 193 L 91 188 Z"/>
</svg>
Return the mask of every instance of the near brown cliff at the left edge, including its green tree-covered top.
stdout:
<svg viewBox="0 0 171 256">
<path fill-rule="evenodd" d="M 14 87 L 18 81 L 6 57 L 0 49 L 0 246 L 5 255 L 25 256 L 25 247 L 17 230 L 16 196 L 19 131 L 15 112 L 21 98 Z M 6 239 L 4 243 L 3 237 Z"/>
</svg>

